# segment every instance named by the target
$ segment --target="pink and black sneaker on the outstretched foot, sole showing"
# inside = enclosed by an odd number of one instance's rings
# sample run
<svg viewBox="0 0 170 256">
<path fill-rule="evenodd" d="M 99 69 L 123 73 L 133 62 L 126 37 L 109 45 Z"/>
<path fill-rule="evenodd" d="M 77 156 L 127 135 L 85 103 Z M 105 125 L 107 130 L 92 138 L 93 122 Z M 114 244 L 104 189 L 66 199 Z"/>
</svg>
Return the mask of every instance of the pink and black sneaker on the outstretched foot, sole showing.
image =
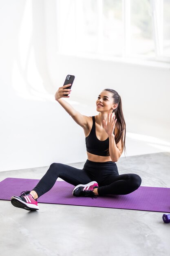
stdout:
<svg viewBox="0 0 170 256">
<path fill-rule="evenodd" d="M 34 199 L 30 192 L 31 191 L 23 191 L 20 196 L 12 196 L 11 204 L 27 211 L 39 210 L 37 199 Z"/>
</svg>

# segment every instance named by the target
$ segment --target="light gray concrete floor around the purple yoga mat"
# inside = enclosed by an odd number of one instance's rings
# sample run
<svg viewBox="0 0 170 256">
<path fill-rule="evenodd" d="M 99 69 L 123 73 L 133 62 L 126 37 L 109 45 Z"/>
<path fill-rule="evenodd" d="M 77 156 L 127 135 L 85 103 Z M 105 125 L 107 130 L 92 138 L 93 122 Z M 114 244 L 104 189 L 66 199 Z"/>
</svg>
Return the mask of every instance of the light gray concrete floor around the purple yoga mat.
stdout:
<svg viewBox="0 0 170 256">
<path fill-rule="evenodd" d="M 167 179 L 170 154 L 158 154 L 156 157 L 164 165 L 160 170 L 143 164 L 142 186 L 170 187 L 170 178 Z M 151 158 L 152 154 L 144 156 L 146 162 Z M 124 159 L 119 160 L 119 174 L 129 173 L 133 159 L 127 158 L 124 168 L 121 166 Z M 144 162 L 140 156 L 137 161 L 138 165 Z M 82 168 L 83 164 L 70 165 Z M 47 169 L 1 172 L 0 181 L 7 177 L 40 179 Z M 139 167 L 135 169 L 134 173 L 140 173 Z M 39 207 L 39 211 L 29 212 L 0 200 L 0 255 L 170 255 L 170 224 L 162 221 L 163 213 L 42 203 Z"/>
</svg>

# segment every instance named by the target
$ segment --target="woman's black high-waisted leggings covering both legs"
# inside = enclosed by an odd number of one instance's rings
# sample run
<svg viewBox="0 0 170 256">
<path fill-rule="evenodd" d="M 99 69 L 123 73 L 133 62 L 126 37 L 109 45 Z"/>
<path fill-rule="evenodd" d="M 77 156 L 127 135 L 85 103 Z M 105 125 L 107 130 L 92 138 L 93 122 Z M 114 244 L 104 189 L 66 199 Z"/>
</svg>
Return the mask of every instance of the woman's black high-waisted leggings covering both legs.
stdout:
<svg viewBox="0 0 170 256">
<path fill-rule="evenodd" d="M 58 177 L 74 186 L 96 181 L 99 185 L 99 195 L 126 195 L 141 185 L 141 177 L 137 174 L 119 175 L 115 162 L 100 163 L 87 159 L 83 169 L 60 163 L 51 164 L 46 174 L 33 189 L 38 197 L 49 191 Z"/>
</svg>

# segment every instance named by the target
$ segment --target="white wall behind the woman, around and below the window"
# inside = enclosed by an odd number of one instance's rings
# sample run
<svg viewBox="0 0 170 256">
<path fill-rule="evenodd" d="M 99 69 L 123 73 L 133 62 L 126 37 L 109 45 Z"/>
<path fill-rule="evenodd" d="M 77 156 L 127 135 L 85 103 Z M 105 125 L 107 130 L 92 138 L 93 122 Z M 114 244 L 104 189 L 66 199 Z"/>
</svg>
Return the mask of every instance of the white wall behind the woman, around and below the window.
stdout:
<svg viewBox="0 0 170 256">
<path fill-rule="evenodd" d="M 170 69 L 58 55 L 54 0 L 0 1 L 0 26 L 0 171 L 85 161 L 83 130 L 53 96 L 66 74 L 82 114 L 113 88 L 129 132 L 170 138 Z"/>
</svg>

